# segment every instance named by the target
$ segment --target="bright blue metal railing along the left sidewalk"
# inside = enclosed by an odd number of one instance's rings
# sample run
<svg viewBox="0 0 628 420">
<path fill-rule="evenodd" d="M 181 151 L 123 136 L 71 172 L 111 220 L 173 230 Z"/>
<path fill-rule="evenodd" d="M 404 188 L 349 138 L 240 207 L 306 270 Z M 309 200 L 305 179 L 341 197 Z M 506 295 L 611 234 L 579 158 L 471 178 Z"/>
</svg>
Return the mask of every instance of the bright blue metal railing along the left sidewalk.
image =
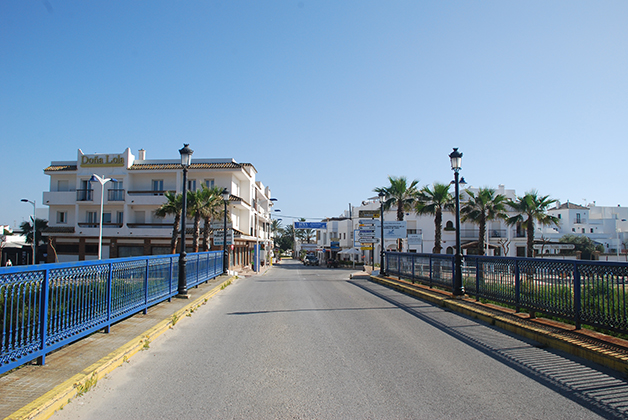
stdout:
<svg viewBox="0 0 628 420">
<path fill-rule="evenodd" d="M 222 251 L 187 255 L 187 285 L 222 274 Z M 177 294 L 179 255 L 0 268 L 0 374 Z"/>
</svg>

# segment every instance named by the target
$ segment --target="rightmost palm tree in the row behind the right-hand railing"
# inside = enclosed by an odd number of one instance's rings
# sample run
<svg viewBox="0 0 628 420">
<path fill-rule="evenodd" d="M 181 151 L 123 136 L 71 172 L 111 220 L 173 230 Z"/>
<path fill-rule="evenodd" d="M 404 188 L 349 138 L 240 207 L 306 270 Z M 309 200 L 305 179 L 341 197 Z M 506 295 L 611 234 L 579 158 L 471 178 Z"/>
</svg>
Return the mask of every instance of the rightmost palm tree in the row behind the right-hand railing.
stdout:
<svg viewBox="0 0 628 420">
<path fill-rule="evenodd" d="M 537 191 L 529 191 L 516 200 L 508 200 L 507 204 L 517 213 L 515 216 L 509 217 L 506 223 L 509 225 L 521 224 L 521 227 L 527 231 L 527 256 L 534 256 L 534 222 L 541 226 L 557 225 L 560 219 L 556 216 L 547 214 L 549 206 L 554 204 L 556 200 L 549 198 L 549 195 L 539 197 Z"/>
</svg>

